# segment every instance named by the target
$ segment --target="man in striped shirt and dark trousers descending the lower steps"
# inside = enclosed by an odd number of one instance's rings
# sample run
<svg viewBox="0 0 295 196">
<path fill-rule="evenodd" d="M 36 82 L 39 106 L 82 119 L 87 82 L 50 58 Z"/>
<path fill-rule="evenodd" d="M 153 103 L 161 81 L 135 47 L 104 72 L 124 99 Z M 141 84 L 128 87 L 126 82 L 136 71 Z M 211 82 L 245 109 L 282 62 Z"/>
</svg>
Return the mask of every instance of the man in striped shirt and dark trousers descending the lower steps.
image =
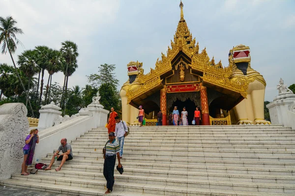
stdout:
<svg viewBox="0 0 295 196">
<path fill-rule="evenodd" d="M 115 133 L 109 133 L 109 141 L 106 143 L 106 155 L 104 158 L 103 165 L 103 175 L 107 180 L 107 191 L 105 194 L 109 194 L 113 191 L 113 186 L 115 183 L 114 178 L 114 169 L 116 165 L 116 155 L 118 156 L 118 167 L 121 168 L 122 165 L 120 163 L 120 145 L 116 142 Z"/>
</svg>

